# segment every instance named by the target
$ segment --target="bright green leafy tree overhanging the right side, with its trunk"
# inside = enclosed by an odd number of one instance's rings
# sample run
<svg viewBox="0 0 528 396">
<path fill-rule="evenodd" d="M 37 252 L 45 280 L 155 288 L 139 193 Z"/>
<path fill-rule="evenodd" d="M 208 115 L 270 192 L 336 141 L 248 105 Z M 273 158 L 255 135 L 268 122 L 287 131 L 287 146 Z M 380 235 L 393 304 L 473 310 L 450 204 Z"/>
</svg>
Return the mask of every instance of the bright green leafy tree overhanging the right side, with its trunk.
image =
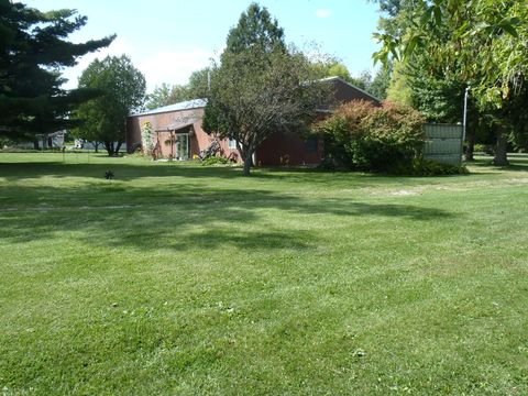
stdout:
<svg viewBox="0 0 528 396">
<path fill-rule="evenodd" d="M 512 103 L 521 91 L 528 68 L 526 4 L 502 0 L 402 3 L 410 7 L 399 8 L 393 20 L 396 23 L 386 24 L 377 34 L 383 48 L 375 58 L 387 62 L 393 56 L 413 63 L 414 56 L 427 56 L 433 66 L 431 74 L 471 85 L 480 112 L 496 134 L 494 161 L 507 164 L 508 133 L 520 128 L 512 123 Z"/>
</svg>

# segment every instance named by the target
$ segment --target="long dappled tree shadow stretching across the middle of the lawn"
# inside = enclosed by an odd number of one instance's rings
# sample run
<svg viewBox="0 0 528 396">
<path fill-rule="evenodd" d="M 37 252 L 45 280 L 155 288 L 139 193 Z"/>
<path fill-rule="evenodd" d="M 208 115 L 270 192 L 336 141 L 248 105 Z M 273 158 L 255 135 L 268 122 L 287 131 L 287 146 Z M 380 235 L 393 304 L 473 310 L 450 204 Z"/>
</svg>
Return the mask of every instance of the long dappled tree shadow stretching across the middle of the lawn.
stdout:
<svg viewBox="0 0 528 396">
<path fill-rule="evenodd" d="M 353 199 L 305 198 L 260 189 L 127 188 L 103 184 L 80 188 L 0 186 L 11 204 L 0 215 L 0 240 L 24 243 L 68 238 L 101 246 L 141 250 L 309 249 L 324 243 L 324 230 L 351 218 L 386 221 L 449 219 L 454 215 L 413 205 L 365 204 Z M 38 200 L 15 202 L 16 197 Z M 310 221 L 319 219 L 317 227 Z M 290 222 L 288 222 L 290 221 Z M 317 229 L 316 229 L 317 228 Z"/>
</svg>

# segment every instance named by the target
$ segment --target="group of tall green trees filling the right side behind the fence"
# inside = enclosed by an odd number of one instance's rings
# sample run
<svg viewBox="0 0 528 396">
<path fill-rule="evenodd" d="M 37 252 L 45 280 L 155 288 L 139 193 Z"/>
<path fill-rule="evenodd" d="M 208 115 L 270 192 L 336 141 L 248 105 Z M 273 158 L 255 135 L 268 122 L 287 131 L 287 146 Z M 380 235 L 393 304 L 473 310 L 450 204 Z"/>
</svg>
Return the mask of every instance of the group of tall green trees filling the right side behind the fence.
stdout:
<svg viewBox="0 0 528 396">
<path fill-rule="evenodd" d="M 385 16 L 374 55 L 394 65 L 389 98 L 429 120 L 460 121 L 470 89 L 469 157 L 479 139 L 496 142 L 494 162 L 507 164 L 507 143 L 528 148 L 524 107 L 528 68 L 528 8 L 521 1 L 376 0 Z M 491 136 L 490 136 L 491 134 Z"/>
</svg>

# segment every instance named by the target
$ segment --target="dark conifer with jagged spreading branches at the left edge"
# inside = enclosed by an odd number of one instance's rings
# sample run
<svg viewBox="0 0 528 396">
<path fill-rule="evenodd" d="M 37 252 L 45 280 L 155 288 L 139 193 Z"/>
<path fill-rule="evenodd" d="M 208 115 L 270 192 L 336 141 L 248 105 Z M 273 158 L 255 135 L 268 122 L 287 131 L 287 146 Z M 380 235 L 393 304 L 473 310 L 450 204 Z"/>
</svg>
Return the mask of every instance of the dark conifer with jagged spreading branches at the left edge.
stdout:
<svg viewBox="0 0 528 396">
<path fill-rule="evenodd" d="M 75 10 L 41 12 L 0 0 L 0 134 L 20 139 L 74 123 L 72 110 L 95 92 L 61 88 L 61 72 L 113 40 L 68 42 L 86 22 Z"/>
</svg>

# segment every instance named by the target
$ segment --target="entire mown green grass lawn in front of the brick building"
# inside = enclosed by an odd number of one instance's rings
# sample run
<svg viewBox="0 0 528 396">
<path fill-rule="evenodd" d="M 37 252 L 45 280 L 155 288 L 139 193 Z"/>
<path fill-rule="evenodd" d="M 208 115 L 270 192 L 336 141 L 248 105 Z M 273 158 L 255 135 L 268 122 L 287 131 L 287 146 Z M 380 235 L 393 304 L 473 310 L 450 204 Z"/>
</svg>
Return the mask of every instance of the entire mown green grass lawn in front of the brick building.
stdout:
<svg viewBox="0 0 528 396">
<path fill-rule="evenodd" d="M 486 163 L 0 153 L 0 389 L 526 395 L 528 157 Z"/>
</svg>

